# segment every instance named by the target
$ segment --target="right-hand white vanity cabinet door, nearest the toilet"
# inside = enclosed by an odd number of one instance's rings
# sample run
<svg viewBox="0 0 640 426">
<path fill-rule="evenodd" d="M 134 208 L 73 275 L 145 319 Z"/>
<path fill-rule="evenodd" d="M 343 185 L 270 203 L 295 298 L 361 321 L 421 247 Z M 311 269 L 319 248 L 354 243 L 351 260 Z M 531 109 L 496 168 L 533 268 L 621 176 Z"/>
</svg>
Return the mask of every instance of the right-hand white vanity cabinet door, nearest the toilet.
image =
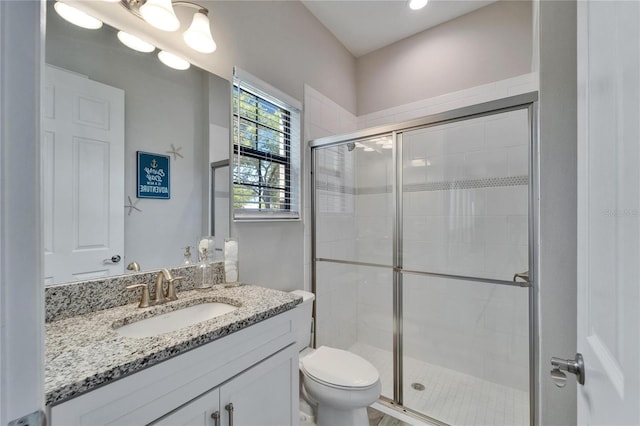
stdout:
<svg viewBox="0 0 640 426">
<path fill-rule="evenodd" d="M 298 380 L 298 352 L 291 345 L 220 387 L 222 424 L 297 426 Z"/>
</svg>

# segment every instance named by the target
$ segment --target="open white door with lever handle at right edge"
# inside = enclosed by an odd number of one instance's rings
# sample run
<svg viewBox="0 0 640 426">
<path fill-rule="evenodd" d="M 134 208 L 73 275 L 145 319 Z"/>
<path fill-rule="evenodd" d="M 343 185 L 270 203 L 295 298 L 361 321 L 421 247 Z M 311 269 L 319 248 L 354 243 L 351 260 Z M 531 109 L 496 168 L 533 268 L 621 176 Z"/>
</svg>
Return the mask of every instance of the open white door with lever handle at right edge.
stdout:
<svg viewBox="0 0 640 426">
<path fill-rule="evenodd" d="M 640 2 L 578 2 L 581 425 L 640 424 L 639 53 Z"/>
</svg>

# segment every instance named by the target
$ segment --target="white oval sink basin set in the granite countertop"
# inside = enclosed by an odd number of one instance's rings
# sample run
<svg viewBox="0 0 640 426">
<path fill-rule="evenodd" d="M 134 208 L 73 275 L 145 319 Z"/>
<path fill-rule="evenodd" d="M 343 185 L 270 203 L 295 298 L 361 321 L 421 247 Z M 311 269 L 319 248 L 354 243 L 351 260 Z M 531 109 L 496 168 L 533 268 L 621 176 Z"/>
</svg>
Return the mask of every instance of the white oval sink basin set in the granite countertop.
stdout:
<svg viewBox="0 0 640 426">
<path fill-rule="evenodd" d="M 202 303 L 132 322 L 117 328 L 116 331 L 125 337 L 152 337 L 224 315 L 236 309 L 238 309 L 237 306 L 227 303 Z"/>
</svg>

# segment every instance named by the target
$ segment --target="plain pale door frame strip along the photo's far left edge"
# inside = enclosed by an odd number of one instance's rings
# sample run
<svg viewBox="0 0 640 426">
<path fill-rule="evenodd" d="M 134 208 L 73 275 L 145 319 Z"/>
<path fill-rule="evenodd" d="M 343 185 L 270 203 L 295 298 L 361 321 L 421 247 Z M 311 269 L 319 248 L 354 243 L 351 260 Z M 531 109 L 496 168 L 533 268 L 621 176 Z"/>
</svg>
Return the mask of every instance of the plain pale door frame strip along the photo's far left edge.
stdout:
<svg viewBox="0 0 640 426">
<path fill-rule="evenodd" d="M 44 411 L 42 5 L 0 2 L 0 424 Z"/>
</svg>

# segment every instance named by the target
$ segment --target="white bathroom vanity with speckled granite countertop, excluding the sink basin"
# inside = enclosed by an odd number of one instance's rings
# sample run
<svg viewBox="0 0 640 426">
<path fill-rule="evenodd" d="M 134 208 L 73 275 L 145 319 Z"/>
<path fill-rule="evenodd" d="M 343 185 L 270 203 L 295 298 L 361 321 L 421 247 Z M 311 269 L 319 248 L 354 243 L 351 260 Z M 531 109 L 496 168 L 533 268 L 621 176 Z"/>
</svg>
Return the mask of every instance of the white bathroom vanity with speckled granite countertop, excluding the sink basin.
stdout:
<svg viewBox="0 0 640 426">
<path fill-rule="evenodd" d="M 297 425 L 293 308 L 301 299 L 254 286 L 179 296 L 152 308 L 129 304 L 47 323 L 50 424 Z M 151 337 L 117 331 L 212 301 L 238 308 Z"/>
</svg>

